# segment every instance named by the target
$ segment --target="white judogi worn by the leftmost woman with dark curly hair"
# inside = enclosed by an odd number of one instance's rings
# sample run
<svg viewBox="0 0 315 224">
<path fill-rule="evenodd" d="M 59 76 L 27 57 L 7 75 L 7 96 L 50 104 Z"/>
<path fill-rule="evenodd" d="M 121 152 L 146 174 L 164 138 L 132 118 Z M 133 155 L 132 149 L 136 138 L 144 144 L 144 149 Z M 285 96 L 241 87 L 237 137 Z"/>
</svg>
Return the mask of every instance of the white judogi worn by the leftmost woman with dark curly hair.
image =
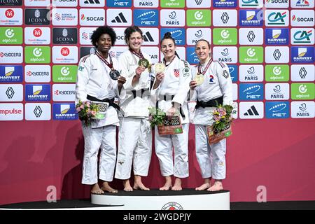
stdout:
<svg viewBox="0 0 315 224">
<path fill-rule="evenodd" d="M 106 59 L 110 62 L 110 59 Z M 113 67 L 120 71 L 118 61 L 112 58 Z M 97 99 L 113 99 L 125 97 L 122 87 L 118 92 L 118 81 L 109 76 L 109 66 L 106 66 L 97 55 L 87 55 L 80 59 L 76 82 L 76 104 L 87 101 L 87 95 Z M 116 109 L 110 106 L 104 120 L 92 122 L 90 127 L 82 125 L 85 140 L 83 158 L 83 184 L 94 184 L 97 178 L 97 155 L 101 148 L 99 158 L 99 179 L 112 181 L 116 164 L 116 126 L 119 119 Z"/>
</svg>

